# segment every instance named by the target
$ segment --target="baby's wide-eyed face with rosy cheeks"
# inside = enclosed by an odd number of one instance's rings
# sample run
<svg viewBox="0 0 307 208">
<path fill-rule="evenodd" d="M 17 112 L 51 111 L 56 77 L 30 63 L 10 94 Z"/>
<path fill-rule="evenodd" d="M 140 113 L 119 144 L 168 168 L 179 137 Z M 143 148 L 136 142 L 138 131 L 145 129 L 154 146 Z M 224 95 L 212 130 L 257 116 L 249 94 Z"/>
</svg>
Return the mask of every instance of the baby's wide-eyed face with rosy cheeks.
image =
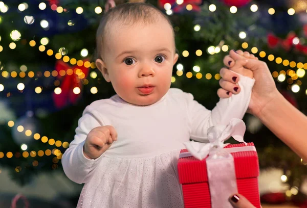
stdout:
<svg viewBox="0 0 307 208">
<path fill-rule="evenodd" d="M 156 23 L 113 24 L 105 40 L 103 65 L 116 93 L 139 106 L 160 100 L 171 84 L 177 62 L 170 25 Z"/>
</svg>

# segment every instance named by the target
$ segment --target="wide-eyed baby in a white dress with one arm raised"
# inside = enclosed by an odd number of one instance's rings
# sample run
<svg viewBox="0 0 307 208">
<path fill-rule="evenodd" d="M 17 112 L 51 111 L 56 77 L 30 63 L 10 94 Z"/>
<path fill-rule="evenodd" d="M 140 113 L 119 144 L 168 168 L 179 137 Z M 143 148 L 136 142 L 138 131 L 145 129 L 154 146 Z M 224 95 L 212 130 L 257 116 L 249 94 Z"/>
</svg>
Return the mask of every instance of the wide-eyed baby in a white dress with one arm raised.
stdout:
<svg viewBox="0 0 307 208">
<path fill-rule="evenodd" d="M 78 207 L 183 207 L 177 173 L 183 143 L 208 142 L 210 126 L 242 119 L 252 76 L 238 74 L 240 93 L 212 111 L 170 88 L 178 60 L 174 31 L 161 11 L 143 3 L 103 16 L 97 53 L 96 65 L 116 95 L 85 108 L 62 157 L 65 174 L 85 184 Z"/>
</svg>

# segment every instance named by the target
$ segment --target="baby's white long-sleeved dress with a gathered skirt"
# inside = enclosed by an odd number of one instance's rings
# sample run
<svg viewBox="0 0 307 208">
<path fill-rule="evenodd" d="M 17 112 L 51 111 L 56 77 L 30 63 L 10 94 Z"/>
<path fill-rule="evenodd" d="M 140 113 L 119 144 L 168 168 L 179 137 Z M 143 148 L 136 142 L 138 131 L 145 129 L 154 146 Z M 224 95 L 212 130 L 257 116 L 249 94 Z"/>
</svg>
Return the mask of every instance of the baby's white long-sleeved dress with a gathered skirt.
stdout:
<svg viewBox="0 0 307 208">
<path fill-rule="evenodd" d="M 65 174 L 84 183 L 77 207 L 183 207 L 177 173 L 183 143 L 207 142 L 210 126 L 242 119 L 253 84 L 240 76 L 241 92 L 221 99 L 212 111 L 174 88 L 146 107 L 130 105 L 118 95 L 87 106 L 62 157 Z M 118 140 L 98 159 L 86 159 L 86 135 L 101 125 L 114 126 Z"/>
</svg>

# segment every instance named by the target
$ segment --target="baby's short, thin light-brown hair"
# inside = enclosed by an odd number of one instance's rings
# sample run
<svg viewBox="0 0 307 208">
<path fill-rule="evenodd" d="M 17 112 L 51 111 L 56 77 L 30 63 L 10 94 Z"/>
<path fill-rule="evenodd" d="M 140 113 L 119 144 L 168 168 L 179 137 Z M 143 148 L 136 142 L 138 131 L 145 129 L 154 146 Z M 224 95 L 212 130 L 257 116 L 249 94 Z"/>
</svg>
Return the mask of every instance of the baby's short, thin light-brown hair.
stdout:
<svg viewBox="0 0 307 208">
<path fill-rule="evenodd" d="M 106 12 L 99 24 L 96 33 L 96 56 L 95 59 L 102 59 L 104 41 L 107 36 L 108 28 L 112 23 L 121 21 L 123 24 L 144 23 L 150 24 L 156 22 L 159 17 L 165 19 L 174 36 L 173 27 L 169 18 L 156 7 L 146 3 L 125 3 L 118 5 Z"/>
</svg>

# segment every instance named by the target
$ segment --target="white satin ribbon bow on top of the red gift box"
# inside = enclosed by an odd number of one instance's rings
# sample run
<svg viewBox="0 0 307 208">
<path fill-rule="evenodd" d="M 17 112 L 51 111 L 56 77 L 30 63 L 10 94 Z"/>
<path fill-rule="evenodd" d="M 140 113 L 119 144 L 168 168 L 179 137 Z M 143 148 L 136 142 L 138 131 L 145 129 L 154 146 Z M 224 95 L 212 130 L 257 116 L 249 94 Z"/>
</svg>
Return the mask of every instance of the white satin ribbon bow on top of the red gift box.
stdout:
<svg viewBox="0 0 307 208">
<path fill-rule="evenodd" d="M 209 143 L 190 141 L 185 142 L 184 145 L 191 155 L 199 160 L 203 160 L 208 154 L 211 155 L 217 151 L 221 152 L 222 149 L 228 145 L 224 144 L 224 142 L 230 137 L 247 145 L 243 139 L 245 130 L 246 126 L 243 120 L 233 118 L 228 125 L 215 125 L 208 129 L 207 137 Z"/>
</svg>

